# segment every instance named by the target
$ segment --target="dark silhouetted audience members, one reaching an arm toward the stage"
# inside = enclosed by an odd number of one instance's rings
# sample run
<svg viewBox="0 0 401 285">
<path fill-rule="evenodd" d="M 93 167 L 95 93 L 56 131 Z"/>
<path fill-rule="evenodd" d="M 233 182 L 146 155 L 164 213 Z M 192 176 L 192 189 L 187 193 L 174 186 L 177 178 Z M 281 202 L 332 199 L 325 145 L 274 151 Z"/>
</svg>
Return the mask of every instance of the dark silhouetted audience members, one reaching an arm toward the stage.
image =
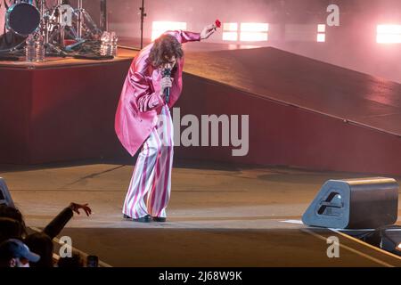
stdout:
<svg viewBox="0 0 401 285">
<path fill-rule="evenodd" d="M 96 266 L 96 256 L 83 255 L 71 250 L 70 255 L 59 256 L 54 252 L 53 239 L 62 231 L 74 213 L 83 210 L 92 214 L 88 204 L 70 203 L 46 225 L 42 232 L 27 229 L 18 208 L 0 205 L 0 267 L 83 267 Z M 90 259 L 90 260 L 89 260 Z"/>
</svg>

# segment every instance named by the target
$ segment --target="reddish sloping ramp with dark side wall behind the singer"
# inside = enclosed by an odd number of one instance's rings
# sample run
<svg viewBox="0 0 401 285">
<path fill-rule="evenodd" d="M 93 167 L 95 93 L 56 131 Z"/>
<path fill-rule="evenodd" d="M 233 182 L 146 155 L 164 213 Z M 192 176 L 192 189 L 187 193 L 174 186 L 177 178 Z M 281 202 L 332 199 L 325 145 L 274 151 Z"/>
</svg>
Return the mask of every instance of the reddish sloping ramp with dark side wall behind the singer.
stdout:
<svg viewBox="0 0 401 285">
<path fill-rule="evenodd" d="M 181 116 L 250 115 L 250 147 L 179 156 L 401 173 L 401 85 L 272 47 L 192 53 L 185 64 Z"/>
</svg>

